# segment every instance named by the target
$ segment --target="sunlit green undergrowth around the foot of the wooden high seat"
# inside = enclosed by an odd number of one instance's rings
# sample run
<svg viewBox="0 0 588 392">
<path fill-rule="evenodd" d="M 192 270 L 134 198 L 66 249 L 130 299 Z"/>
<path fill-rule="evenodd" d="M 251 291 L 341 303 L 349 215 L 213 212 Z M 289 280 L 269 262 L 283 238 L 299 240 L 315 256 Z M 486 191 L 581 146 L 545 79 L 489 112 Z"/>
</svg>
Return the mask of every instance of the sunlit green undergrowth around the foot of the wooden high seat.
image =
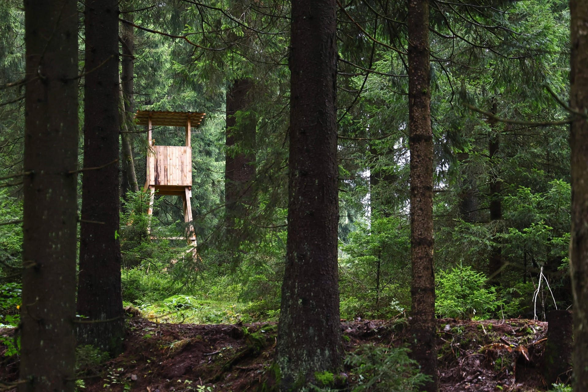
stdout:
<svg viewBox="0 0 588 392">
<path fill-rule="evenodd" d="M 238 249 L 204 246 L 193 260 L 185 243 L 162 239 L 181 233 L 146 215 L 145 193 L 127 196 L 121 216 L 124 301 L 153 320 L 174 323 L 277 319 L 285 230 L 269 231 L 255 243 L 244 240 Z"/>
</svg>

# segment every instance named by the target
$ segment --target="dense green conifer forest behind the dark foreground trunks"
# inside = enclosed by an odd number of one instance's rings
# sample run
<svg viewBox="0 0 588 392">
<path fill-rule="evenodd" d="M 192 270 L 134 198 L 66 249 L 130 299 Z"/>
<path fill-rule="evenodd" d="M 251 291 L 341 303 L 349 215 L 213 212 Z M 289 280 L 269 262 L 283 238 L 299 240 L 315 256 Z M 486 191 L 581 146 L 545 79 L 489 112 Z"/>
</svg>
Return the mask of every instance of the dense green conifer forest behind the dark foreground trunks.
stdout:
<svg viewBox="0 0 588 392">
<path fill-rule="evenodd" d="M 570 8 L 567 0 L 470 3 L 427 2 L 435 315 L 544 321 L 550 310 L 573 303 Z M 93 93 L 86 81 L 103 65 L 99 59 L 86 65 L 85 6 L 77 5 L 80 168 L 98 166 L 84 164 L 89 125 L 83 108 Z M 166 323 L 278 321 L 287 244 L 300 234 L 288 232 L 289 137 L 296 126 L 290 117 L 290 2 L 125 0 L 117 6 L 118 163 L 112 167 L 123 306 Z M 405 1 L 336 6 L 341 319 L 395 319 L 411 311 L 409 145 L 416 139 L 409 135 L 408 14 Z M 25 9 L 5 0 L 3 327 L 19 326 L 20 269 L 26 267 L 23 181 L 14 176 L 26 172 L 25 60 Z M 196 252 L 185 240 L 165 239 L 186 232 L 181 197 L 156 195 L 153 216 L 147 215 L 142 185 L 150 146 L 146 129 L 133 122 L 136 110 L 206 113 L 191 133 L 188 225 Z M 183 145 L 184 132 L 155 127 L 153 138 L 156 145 Z M 318 143 L 305 145 L 304 138 L 303 149 Z M 55 159 L 61 159 L 58 152 Z M 77 206 L 69 207 L 77 211 L 83 243 L 80 226 L 92 221 L 83 217 L 82 175 L 77 182 Z M 86 256 L 79 257 L 82 263 Z"/>
</svg>

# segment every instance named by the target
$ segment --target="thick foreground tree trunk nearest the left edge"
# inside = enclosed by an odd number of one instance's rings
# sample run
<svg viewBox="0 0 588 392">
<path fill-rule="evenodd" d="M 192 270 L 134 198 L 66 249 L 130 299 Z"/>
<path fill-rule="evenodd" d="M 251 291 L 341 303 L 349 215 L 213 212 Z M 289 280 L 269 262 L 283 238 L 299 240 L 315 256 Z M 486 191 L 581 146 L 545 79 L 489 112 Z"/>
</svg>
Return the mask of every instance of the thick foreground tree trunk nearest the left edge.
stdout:
<svg viewBox="0 0 588 392">
<path fill-rule="evenodd" d="M 77 2 L 27 0 L 22 392 L 75 388 Z"/>
</svg>

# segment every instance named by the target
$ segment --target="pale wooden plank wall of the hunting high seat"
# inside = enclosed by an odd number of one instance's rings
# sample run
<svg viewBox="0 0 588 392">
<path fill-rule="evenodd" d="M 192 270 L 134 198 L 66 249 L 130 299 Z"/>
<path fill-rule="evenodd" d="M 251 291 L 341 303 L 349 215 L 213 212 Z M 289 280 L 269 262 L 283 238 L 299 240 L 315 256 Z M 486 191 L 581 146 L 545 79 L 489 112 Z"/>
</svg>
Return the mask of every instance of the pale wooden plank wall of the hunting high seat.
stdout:
<svg viewBox="0 0 588 392">
<path fill-rule="evenodd" d="M 149 159 L 149 181 L 153 181 L 152 185 L 192 185 L 192 148 L 153 146 L 153 149 L 155 156 Z"/>
</svg>

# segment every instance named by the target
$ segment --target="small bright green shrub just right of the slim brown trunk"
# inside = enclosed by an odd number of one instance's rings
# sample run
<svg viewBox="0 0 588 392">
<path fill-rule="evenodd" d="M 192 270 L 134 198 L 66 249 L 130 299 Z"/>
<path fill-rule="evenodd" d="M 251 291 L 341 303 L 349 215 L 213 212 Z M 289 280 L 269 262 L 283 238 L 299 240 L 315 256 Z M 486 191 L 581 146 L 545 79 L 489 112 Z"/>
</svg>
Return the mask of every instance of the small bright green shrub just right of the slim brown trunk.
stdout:
<svg viewBox="0 0 588 392">
<path fill-rule="evenodd" d="M 435 311 L 440 317 L 488 319 L 503 306 L 485 274 L 470 266 L 440 271 L 436 280 Z"/>
</svg>

